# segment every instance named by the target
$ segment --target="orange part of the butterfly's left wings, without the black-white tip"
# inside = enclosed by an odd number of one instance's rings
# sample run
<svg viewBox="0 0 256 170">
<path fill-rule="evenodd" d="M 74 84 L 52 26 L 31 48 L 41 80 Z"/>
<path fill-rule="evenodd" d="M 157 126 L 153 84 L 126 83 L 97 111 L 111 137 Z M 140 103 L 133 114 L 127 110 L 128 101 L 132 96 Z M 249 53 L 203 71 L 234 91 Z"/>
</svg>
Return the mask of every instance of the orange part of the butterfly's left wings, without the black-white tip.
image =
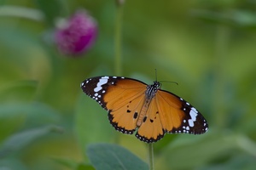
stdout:
<svg viewBox="0 0 256 170">
<path fill-rule="evenodd" d="M 142 82 L 125 79 L 108 88 L 108 95 L 103 100 L 109 110 L 109 121 L 116 130 L 130 134 L 135 131 L 146 87 Z"/>
</svg>

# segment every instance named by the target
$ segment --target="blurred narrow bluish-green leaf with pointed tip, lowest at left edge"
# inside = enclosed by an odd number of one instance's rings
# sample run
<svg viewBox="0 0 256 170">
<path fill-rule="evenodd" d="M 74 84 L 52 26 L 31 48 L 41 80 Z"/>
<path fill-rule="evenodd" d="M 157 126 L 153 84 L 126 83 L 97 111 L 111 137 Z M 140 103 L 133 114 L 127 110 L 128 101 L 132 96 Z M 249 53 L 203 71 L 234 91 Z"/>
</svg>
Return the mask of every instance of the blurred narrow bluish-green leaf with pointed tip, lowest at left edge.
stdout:
<svg viewBox="0 0 256 170">
<path fill-rule="evenodd" d="M 46 134 L 52 132 L 61 132 L 62 129 L 56 126 L 47 126 L 47 127 L 38 127 L 31 128 L 29 130 L 15 133 L 6 139 L 1 147 L 0 156 L 5 156 L 10 152 L 14 152 L 20 149 L 23 149 L 28 144 L 32 144 L 36 139 L 43 137 Z"/>
</svg>

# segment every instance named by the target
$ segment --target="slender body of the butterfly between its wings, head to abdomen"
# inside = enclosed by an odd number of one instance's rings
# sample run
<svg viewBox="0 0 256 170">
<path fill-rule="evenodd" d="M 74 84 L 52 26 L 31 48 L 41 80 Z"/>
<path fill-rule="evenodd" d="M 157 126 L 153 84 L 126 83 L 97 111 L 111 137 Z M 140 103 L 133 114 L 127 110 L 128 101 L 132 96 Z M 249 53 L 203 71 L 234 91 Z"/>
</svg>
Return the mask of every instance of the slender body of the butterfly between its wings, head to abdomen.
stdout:
<svg viewBox="0 0 256 170">
<path fill-rule="evenodd" d="M 148 106 L 151 103 L 151 100 L 154 98 L 154 95 L 156 94 L 157 90 L 160 88 L 160 82 L 154 82 L 151 85 L 147 86 L 147 90 L 145 92 L 145 100 L 142 107 L 142 110 L 140 111 L 139 117 L 137 119 L 137 126 L 140 127 L 143 122 L 146 122 L 147 120 L 147 111 Z"/>
</svg>

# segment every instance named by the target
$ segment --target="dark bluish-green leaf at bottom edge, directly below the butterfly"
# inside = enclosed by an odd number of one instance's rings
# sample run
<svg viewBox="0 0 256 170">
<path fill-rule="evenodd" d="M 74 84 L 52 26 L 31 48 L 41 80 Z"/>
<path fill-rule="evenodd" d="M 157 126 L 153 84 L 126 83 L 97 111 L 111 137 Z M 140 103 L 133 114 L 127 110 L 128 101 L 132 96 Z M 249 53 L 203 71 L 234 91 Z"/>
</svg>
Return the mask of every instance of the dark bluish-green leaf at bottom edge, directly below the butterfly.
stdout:
<svg viewBox="0 0 256 170">
<path fill-rule="evenodd" d="M 86 150 L 97 170 L 148 170 L 148 164 L 117 144 L 90 144 Z"/>
</svg>

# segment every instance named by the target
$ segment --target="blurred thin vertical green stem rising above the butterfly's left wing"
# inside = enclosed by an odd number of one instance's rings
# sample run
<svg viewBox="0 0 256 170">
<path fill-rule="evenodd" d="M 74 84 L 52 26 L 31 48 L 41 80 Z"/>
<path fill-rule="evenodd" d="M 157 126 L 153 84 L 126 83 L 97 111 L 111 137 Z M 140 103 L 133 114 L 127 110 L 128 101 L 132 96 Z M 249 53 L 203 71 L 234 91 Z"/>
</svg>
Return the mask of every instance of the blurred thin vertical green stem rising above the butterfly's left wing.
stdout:
<svg viewBox="0 0 256 170">
<path fill-rule="evenodd" d="M 115 23 L 115 40 L 114 40 L 114 50 L 115 50 L 115 75 L 121 76 L 122 74 L 122 43 L 121 43 L 121 32 L 122 32 L 122 16 L 123 16 L 123 6 L 117 5 L 116 23 Z"/>
</svg>

